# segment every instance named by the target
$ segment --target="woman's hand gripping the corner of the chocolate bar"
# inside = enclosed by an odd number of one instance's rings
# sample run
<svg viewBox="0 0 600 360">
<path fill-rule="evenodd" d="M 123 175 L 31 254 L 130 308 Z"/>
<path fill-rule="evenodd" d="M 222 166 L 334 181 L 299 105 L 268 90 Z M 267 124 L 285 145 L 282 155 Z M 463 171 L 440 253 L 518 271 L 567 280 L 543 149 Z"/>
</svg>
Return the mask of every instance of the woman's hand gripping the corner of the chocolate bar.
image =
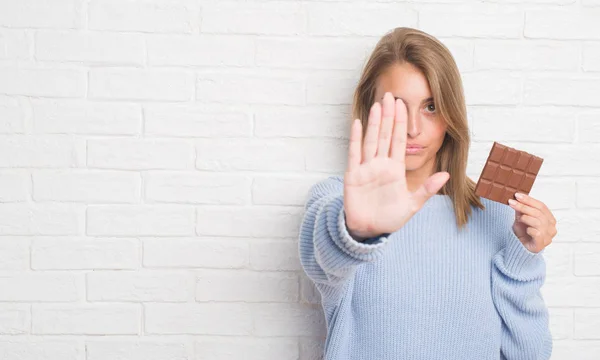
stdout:
<svg viewBox="0 0 600 360">
<path fill-rule="evenodd" d="M 529 251 L 538 253 L 556 236 L 556 219 L 543 202 L 522 193 L 515 197 L 508 200 L 515 209 L 513 231 Z"/>
</svg>

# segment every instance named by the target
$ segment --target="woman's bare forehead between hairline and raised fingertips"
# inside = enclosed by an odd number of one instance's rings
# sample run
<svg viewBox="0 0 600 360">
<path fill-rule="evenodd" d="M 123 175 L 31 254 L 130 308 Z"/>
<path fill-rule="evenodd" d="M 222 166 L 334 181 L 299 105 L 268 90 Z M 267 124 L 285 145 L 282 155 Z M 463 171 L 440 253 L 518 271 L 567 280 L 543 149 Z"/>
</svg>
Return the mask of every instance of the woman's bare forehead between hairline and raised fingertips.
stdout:
<svg viewBox="0 0 600 360">
<path fill-rule="evenodd" d="M 383 97 L 386 91 L 390 91 L 395 97 L 400 97 L 408 102 L 419 102 L 431 97 L 431 90 L 425 75 L 408 63 L 391 65 L 379 75 L 375 91 L 376 98 Z"/>
</svg>

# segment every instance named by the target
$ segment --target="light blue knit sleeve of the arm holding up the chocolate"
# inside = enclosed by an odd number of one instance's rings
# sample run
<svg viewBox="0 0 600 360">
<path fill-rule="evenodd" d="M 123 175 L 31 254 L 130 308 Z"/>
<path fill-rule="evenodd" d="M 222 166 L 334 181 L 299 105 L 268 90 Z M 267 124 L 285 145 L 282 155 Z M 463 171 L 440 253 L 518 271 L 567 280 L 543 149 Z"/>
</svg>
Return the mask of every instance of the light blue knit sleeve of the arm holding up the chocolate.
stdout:
<svg viewBox="0 0 600 360">
<path fill-rule="evenodd" d="M 529 251 L 512 228 L 506 236 L 492 267 L 492 297 L 502 318 L 501 359 L 550 359 L 549 314 L 540 292 L 546 277 L 544 250 Z"/>
</svg>

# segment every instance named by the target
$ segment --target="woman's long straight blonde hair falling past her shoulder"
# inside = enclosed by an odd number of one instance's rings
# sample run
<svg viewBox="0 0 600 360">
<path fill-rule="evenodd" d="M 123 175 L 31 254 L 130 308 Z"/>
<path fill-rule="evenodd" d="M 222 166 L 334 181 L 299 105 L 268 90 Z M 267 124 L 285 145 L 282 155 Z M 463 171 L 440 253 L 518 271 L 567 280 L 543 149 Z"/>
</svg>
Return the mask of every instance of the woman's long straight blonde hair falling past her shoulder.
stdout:
<svg viewBox="0 0 600 360">
<path fill-rule="evenodd" d="M 361 120 L 364 140 L 379 75 L 391 65 L 404 63 L 412 64 L 423 73 L 436 111 L 447 124 L 444 141 L 436 154 L 435 172 L 450 173 L 440 193 L 452 199 L 457 226 L 462 228 L 471 215 L 471 206 L 481 209 L 484 206 L 475 195 L 475 182 L 466 175 L 471 142 L 467 110 L 460 73 L 446 46 L 413 28 L 399 27 L 385 34 L 371 53 L 354 92 L 352 120 Z"/>
</svg>

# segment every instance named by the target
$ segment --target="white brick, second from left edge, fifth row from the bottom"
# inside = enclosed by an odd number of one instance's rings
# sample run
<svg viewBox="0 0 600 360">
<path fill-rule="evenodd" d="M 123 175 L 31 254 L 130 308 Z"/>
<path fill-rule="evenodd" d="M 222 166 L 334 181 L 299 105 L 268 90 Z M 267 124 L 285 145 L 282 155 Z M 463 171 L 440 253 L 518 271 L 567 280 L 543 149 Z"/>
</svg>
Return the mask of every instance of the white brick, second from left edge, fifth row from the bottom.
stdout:
<svg viewBox="0 0 600 360">
<path fill-rule="evenodd" d="M 194 233 L 194 209 L 182 205 L 90 205 L 87 235 L 185 236 Z"/>
</svg>

